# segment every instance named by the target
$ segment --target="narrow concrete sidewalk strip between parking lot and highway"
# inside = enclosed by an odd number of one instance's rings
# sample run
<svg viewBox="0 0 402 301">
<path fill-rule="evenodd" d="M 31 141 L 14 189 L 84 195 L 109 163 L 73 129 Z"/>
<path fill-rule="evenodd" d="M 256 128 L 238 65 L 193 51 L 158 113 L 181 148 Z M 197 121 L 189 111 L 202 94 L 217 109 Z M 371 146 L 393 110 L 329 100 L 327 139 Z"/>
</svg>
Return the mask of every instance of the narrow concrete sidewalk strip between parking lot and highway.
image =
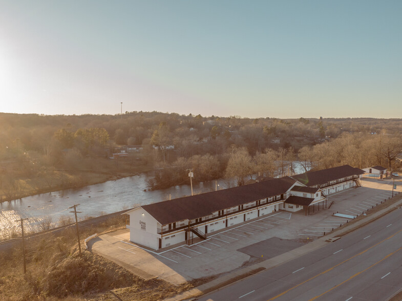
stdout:
<svg viewBox="0 0 402 301">
<path fill-rule="evenodd" d="M 167 298 L 167 299 L 165 299 L 165 301 L 178 301 L 178 300 L 194 298 L 201 294 L 205 294 L 210 291 L 216 290 L 218 288 L 223 288 L 226 285 L 230 285 L 231 283 L 234 283 L 242 278 L 245 278 L 245 277 L 253 274 L 252 271 L 254 271 L 254 270 L 258 270 L 261 268 L 270 269 L 270 268 L 279 266 L 283 263 L 286 263 L 288 261 L 297 259 L 298 257 L 300 257 L 302 255 L 305 255 L 311 251 L 314 251 L 316 249 L 319 249 L 319 248 L 325 246 L 326 244 L 330 243 L 331 239 L 337 239 L 338 237 L 345 235 L 353 230 L 356 230 L 356 229 L 372 222 L 373 220 L 384 216 L 384 214 L 386 214 L 396 208 L 401 207 L 402 206 L 402 195 L 396 196 L 395 198 L 399 199 L 399 200 L 397 202 L 395 202 L 394 204 L 387 206 L 383 209 L 380 209 L 375 213 L 368 214 L 364 218 L 362 217 L 358 220 L 348 223 L 346 226 L 338 228 L 338 229 L 334 230 L 333 232 L 331 232 L 331 233 L 323 236 L 322 238 L 317 239 L 307 245 L 304 245 L 297 249 L 291 250 L 291 251 L 281 254 L 279 256 L 273 257 L 272 259 L 268 259 L 264 262 L 261 262 L 261 263 L 249 266 L 247 268 L 239 269 L 232 273 L 226 274 L 211 282 L 203 284 L 197 288 L 194 288 L 189 291 L 185 291 L 173 298 Z"/>
</svg>

